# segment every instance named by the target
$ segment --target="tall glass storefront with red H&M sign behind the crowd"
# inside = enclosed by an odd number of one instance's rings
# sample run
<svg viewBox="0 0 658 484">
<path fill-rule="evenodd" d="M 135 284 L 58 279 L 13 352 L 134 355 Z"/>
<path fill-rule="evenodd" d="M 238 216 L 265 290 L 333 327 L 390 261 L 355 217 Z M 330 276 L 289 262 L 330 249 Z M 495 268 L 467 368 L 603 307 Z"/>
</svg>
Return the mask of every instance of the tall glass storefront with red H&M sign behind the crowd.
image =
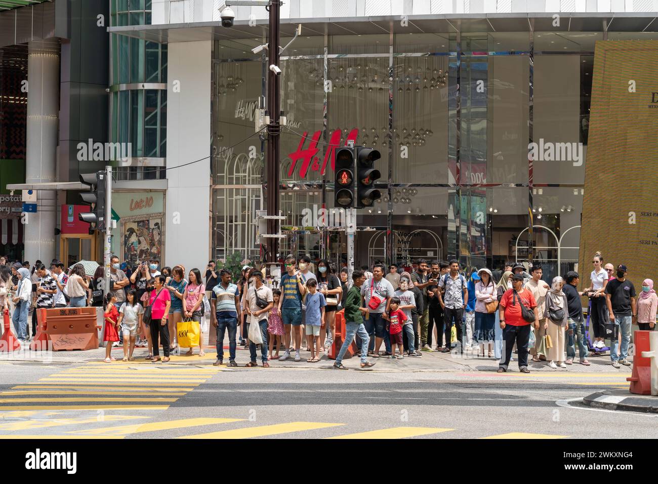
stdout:
<svg viewBox="0 0 658 484">
<path fill-rule="evenodd" d="M 619 33 L 617 33 L 619 34 Z M 357 211 L 357 265 L 458 257 L 467 266 L 578 261 L 595 41 L 603 32 L 306 36 L 284 52 L 281 207 L 285 228 L 333 207 L 332 146 L 382 154 L 390 190 Z M 286 45 L 287 39 L 282 39 Z M 261 252 L 265 143 L 262 39 L 215 41 L 213 256 Z M 555 144 L 568 159 L 545 155 Z M 231 147 L 226 149 L 226 147 Z M 569 154 L 569 153 L 567 153 Z M 559 161 L 555 161 L 557 158 Z M 340 263 L 344 232 L 291 230 L 280 254 Z M 387 236 L 392 234 L 392 236 Z"/>
</svg>

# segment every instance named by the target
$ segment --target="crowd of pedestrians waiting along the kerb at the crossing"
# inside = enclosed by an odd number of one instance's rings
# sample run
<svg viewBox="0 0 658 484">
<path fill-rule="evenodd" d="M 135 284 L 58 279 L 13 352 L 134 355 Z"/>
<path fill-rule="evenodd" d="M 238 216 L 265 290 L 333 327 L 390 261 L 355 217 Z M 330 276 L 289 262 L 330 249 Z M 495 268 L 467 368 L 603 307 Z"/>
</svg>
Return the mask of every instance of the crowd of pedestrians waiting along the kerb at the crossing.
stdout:
<svg viewBox="0 0 658 484">
<path fill-rule="evenodd" d="M 30 271 L 29 262 L 8 264 L 0 257 L 0 307 L 13 311 L 16 336 L 26 342 L 30 311 L 32 336 L 36 334 L 33 309 L 103 306 L 105 362 L 115 361 L 112 348 L 120 342 L 124 361 L 134 358 L 135 348 L 147 347 L 147 360 L 168 362 L 179 347 L 176 330 L 181 323 L 198 335 L 194 344 L 184 346 L 187 354 L 195 354 L 199 346 L 198 354 L 204 356 L 204 333 L 212 323 L 215 365 L 224 364 L 227 333 L 230 366 L 237 366 L 239 344 L 249 347 L 247 367 L 259 365 L 259 359 L 263 367 L 273 360 L 299 362 L 302 352 L 309 353 L 307 362 L 316 363 L 333 344 L 336 313 L 343 309 L 346 335 L 336 369 L 346 369 L 343 358 L 354 339 L 363 368 L 374 365 L 368 357 L 418 358 L 436 345 L 436 351 L 498 359 L 501 373 L 515 355 L 519 370 L 528 373 L 529 358 L 553 369 L 567 368 L 574 364 L 576 349 L 578 362 L 590 365 L 588 348 L 600 353 L 605 340 L 610 340 L 612 365 L 630 365 L 632 324 L 655 328 L 658 296 L 653 281 L 644 279 L 638 295 L 625 265 L 602 267 L 600 252 L 592 264 L 589 286 L 578 291 L 578 273 L 545 281 L 538 264 L 527 270 L 506 263 L 493 271 L 465 271 L 457 259 L 419 259 L 411 267 L 390 265 L 388 271 L 381 263 L 364 266 L 349 280 L 347 267 L 336 275 L 326 259 L 313 263 L 307 255 L 289 255 L 278 287 L 272 289 L 263 272 L 249 265 L 236 275 L 210 261 L 202 275 L 183 265 L 160 269 L 159 261 L 151 259 L 124 271 L 113 256 L 111 288 L 103 294 L 102 267 L 89 275 L 82 263 L 66 268 L 53 260 L 49 268 L 37 261 Z M 590 300 L 590 345 L 582 296 Z"/>
</svg>

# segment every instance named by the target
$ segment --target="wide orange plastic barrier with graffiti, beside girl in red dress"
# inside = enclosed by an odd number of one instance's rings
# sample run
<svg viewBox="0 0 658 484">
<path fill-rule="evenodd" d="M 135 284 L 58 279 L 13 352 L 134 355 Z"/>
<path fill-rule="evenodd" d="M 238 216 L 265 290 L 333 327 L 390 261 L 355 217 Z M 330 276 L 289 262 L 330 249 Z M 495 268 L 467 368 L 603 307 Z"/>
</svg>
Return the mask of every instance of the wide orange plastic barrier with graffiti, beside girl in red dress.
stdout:
<svg viewBox="0 0 658 484">
<path fill-rule="evenodd" d="M 56 308 L 44 312 L 43 323 L 53 351 L 98 349 L 100 326 L 96 325 L 96 308 Z"/>
</svg>

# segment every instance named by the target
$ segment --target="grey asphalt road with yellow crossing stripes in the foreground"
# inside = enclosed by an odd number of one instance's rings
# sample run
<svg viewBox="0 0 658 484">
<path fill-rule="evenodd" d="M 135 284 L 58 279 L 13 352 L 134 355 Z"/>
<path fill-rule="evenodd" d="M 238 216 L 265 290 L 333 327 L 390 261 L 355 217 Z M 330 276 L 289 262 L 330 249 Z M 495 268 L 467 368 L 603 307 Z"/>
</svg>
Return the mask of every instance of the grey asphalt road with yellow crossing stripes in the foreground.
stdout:
<svg viewBox="0 0 658 484">
<path fill-rule="evenodd" d="M 213 367 L 212 356 L 164 365 L 1 362 L 0 437 L 655 437 L 656 415 L 568 402 L 623 388 L 628 369 L 601 361 L 499 375 L 495 362 L 477 371 L 445 360 L 433 371 L 429 358 L 439 361 L 424 356 L 422 371 L 407 367 L 411 358 L 404 367 L 380 359 L 376 371 L 337 371 L 328 360 L 232 369 Z"/>
</svg>

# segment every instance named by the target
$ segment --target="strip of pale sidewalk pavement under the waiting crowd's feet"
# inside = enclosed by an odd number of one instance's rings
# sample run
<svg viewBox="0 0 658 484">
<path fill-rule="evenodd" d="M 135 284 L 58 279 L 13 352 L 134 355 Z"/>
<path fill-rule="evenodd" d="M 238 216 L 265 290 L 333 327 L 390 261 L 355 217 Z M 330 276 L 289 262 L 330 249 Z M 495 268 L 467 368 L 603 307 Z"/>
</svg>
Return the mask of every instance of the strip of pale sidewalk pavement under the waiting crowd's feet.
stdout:
<svg viewBox="0 0 658 484">
<path fill-rule="evenodd" d="M 216 360 L 215 346 L 205 345 L 205 356 L 199 357 L 199 348 L 194 348 L 193 356 L 185 355 L 188 348 L 183 348 L 180 354 L 173 353 L 170 363 L 184 364 L 184 365 L 211 365 Z M 134 362 L 126 362 L 126 364 L 135 363 L 150 363 L 144 360 L 147 356 L 147 348 L 135 348 Z M 280 354 L 283 354 L 281 351 Z M 162 349 L 160 355 L 163 356 Z M 124 356 L 123 347 L 113 348 L 112 356 L 121 362 Z M 261 365 L 261 354 L 257 349 L 257 362 Z M 322 359 L 317 363 L 309 363 L 306 360 L 310 357 L 309 352 L 301 352 L 301 362 L 295 362 L 294 352 L 291 353 L 292 358 L 285 362 L 278 360 L 271 360 L 270 367 L 272 368 L 305 368 L 313 369 L 320 368 L 326 369 L 333 365 L 334 360 L 329 360 L 326 352 L 322 353 Z M 509 371 L 515 373 L 518 371 L 517 355 L 513 354 L 514 361 L 509 365 Z M 23 351 L 22 348 L 13 353 L 0 353 L 0 362 L 39 362 L 39 363 L 87 363 L 87 362 L 102 362 L 105 359 L 105 348 L 98 348 L 97 350 L 88 351 L 59 351 L 59 352 L 31 352 L 29 350 Z M 441 352 L 422 352 L 422 356 L 405 356 L 402 360 L 392 360 L 390 357 L 372 358 L 368 360 L 378 363 L 373 371 L 387 371 L 387 372 L 472 372 L 472 371 L 496 371 L 498 368 L 498 360 L 495 358 L 478 358 L 475 352 L 465 352 L 463 355 L 457 353 L 454 349 L 451 353 Z M 547 362 L 534 363 L 532 360 L 528 361 L 528 368 L 533 373 L 601 373 L 605 374 L 628 374 L 631 373 L 632 367 L 622 366 L 619 369 L 614 368 L 610 364 L 609 356 L 590 356 L 590 366 L 580 365 L 578 360 L 574 360 L 574 364 L 568 365 L 566 369 L 558 368 L 551 369 Z M 353 363 L 352 363 L 353 361 Z M 224 345 L 224 362 L 228 362 L 228 344 Z M 240 366 L 244 366 L 249 362 L 249 348 L 238 346 L 236 352 L 236 362 Z M 348 367 L 358 367 L 359 359 L 351 358 L 343 360 Z"/>
</svg>

